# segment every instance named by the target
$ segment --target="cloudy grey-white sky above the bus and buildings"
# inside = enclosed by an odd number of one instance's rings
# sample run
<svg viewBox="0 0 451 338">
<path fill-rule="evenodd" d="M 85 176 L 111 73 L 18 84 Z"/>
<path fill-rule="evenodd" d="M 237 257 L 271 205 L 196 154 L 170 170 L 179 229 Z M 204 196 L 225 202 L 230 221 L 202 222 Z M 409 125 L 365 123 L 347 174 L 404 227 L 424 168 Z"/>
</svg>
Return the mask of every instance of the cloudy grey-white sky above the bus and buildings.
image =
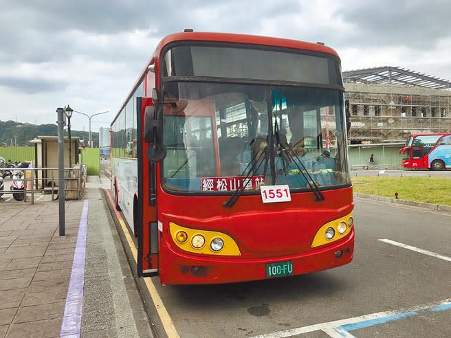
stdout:
<svg viewBox="0 0 451 338">
<path fill-rule="evenodd" d="M 342 69 L 451 80 L 449 0 L 2 0 L 0 120 L 54 123 L 70 104 L 107 127 L 159 40 L 184 28 L 323 41 Z M 72 126 L 88 129 L 74 113 Z"/>
</svg>

